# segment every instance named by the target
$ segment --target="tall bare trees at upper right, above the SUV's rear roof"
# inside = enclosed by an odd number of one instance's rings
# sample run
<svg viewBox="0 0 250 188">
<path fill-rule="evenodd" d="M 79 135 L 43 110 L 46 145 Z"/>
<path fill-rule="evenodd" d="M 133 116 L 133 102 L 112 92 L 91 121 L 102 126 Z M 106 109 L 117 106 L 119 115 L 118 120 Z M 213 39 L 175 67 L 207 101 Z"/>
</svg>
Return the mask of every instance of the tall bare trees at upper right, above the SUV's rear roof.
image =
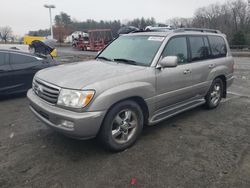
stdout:
<svg viewBox="0 0 250 188">
<path fill-rule="evenodd" d="M 249 24 L 247 2 L 244 0 L 228 0 L 223 4 L 217 3 L 199 8 L 193 18 L 194 27 L 221 30 L 229 41 L 232 41 L 238 32 L 249 33 Z"/>
</svg>

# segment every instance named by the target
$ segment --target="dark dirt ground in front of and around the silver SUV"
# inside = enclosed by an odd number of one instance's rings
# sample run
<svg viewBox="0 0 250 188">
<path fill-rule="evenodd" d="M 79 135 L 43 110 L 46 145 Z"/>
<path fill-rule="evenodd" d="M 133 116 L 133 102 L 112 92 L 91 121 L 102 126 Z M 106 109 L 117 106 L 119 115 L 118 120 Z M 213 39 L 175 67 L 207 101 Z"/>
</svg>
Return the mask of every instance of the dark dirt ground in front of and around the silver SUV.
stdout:
<svg viewBox="0 0 250 188">
<path fill-rule="evenodd" d="M 219 108 L 147 127 L 117 154 L 51 131 L 25 97 L 2 100 L 0 187 L 250 187 L 250 58 L 235 75 Z"/>
</svg>

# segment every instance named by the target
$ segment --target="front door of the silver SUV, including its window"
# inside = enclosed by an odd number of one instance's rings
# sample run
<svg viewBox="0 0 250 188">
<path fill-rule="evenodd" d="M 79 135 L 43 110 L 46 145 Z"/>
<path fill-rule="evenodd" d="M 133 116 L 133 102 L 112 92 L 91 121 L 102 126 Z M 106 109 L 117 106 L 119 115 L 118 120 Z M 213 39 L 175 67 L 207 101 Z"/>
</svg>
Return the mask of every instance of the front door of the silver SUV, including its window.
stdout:
<svg viewBox="0 0 250 188">
<path fill-rule="evenodd" d="M 173 37 L 167 43 L 162 58 L 177 56 L 178 66 L 156 70 L 156 110 L 194 97 L 192 65 L 189 63 L 187 37 Z"/>
</svg>

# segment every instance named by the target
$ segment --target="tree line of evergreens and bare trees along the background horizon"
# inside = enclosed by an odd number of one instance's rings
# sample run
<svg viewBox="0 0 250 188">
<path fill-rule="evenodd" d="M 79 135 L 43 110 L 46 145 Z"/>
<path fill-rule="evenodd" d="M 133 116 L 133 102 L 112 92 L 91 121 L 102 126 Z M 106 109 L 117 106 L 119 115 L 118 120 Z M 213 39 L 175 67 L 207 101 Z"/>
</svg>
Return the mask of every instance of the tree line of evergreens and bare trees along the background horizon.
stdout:
<svg viewBox="0 0 250 188">
<path fill-rule="evenodd" d="M 244 0 L 228 0 L 225 3 L 211 4 L 201 7 L 195 11 L 192 18 L 172 18 L 167 22 L 176 27 L 199 27 L 218 29 L 225 33 L 230 44 L 250 45 L 250 9 Z M 125 25 L 131 25 L 144 29 L 148 25 L 154 25 L 154 18 L 136 18 L 128 21 Z M 75 21 L 70 15 L 62 12 L 55 16 L 54 36 L 62 41 L 65 36 L 73 31 L 87 31 L 88 29 L 111 29 L 114 36 L 123 26 L 120 20 L 114 21 Z M 50 34 L 49 29 L 30 31 L 30 35 L 46 36 Z"/>
</svg>

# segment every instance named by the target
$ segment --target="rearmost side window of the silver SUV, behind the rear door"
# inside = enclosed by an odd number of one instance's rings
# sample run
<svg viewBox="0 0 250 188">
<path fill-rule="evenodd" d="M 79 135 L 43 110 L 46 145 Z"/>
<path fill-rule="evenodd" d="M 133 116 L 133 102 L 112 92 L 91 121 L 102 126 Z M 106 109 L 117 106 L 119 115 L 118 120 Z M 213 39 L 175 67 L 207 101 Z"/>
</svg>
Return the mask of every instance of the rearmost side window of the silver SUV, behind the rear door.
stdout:
<svg viewBox="0 0 250 188">
<path fill-rule="evenodd" d="M 219 36 L 208 36 L 212 57 L 225 57 L 227 54 L 226 43 L 222 37 Z"/>
</svg>

